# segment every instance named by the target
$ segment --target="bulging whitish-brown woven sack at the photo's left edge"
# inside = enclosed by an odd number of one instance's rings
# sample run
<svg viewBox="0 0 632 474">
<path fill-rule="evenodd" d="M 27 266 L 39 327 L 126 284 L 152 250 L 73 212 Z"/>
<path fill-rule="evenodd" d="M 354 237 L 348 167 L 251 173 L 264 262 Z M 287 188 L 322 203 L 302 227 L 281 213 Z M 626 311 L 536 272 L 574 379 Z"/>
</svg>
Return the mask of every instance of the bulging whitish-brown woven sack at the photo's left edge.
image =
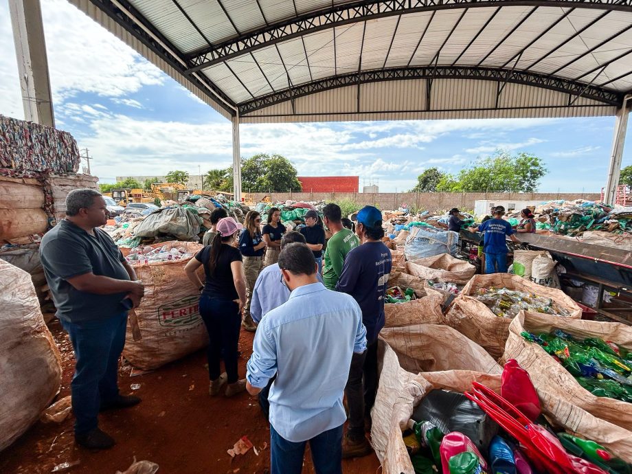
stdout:
<svg viewBox="0 0 632 474">
<path fill-rule="evenodd" d="M 61 357 L 30 275 L 0 260 L 0 451 L 21 436 L 59 392 Z"/>
</svg>

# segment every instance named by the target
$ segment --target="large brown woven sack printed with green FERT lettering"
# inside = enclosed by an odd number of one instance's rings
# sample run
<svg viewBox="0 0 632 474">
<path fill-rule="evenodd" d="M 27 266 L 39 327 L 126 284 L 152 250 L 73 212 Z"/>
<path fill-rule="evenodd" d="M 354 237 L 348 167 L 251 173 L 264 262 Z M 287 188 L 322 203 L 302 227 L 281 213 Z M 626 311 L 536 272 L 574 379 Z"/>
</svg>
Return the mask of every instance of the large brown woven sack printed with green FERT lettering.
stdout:
<svg viewBox="0 0 632 474">
<path fill-rule="evenodd" d="M 194 255 L 203 245 L 163 242 L 150 247 L 185 248 Z M 190 259 L 150 262 L 135 266 L 145 285 L 145 296 L 135 309 L 142 339 L 133 339 L 128 321 L 124 357 L 142 370 L 159 368 L 207 345 L 208 336 L 199 312 L 200 292 L 184 273 Z M 200 278 L 203 268 L 200 267 Z"/>
</svg>

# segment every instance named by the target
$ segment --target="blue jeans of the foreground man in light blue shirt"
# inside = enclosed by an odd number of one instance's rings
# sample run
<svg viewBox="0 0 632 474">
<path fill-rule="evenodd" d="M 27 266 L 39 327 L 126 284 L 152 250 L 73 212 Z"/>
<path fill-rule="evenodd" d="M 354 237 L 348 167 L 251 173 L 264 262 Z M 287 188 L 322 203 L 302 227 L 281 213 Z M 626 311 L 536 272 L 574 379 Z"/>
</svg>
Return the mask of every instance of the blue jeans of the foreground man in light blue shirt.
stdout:
<svg viewBox="0 0 632 474">
<path fill-rule="evenodd" d="M 342 474 L 342 425 L 308 441 L 316 474 Z M 270 474 L 301 474 L 306 444 L 285 440 L 270 425 Z"/>
</svg>

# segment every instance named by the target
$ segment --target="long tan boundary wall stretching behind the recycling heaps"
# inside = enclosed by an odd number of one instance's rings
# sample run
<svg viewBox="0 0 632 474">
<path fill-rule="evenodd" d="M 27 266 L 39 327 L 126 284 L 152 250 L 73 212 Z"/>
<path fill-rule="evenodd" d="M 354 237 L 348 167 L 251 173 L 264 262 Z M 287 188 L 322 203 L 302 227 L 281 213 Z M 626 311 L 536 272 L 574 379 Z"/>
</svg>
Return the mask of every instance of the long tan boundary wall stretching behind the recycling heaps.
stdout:
<svg viewBox="0 0 632 474">
<path fill-rule="evenodd" d="M 273 202 L 286 201 L 326 201 L 338 202 L 342 200 L 354 201 L 358 205 L 374 205 L 382 210 L 394 210 L 403 204 L 409 207 L 425 209 L 429 211 L 448 210 L 451 207 L 459 207 L 461 210 L 473 210 L 474 201 L 477 199 L 490 199 L 497 201 L 552 201 L 553 199 L 586 199 L 587 201 L 597 201 L 600 199 L 599 193 L 556 193 L 556 192 L 379 192 L 379 193 L 359 193 L 359 192 L 273 192 L 254 193 L 255 201 L 260 201 L 264 196 L 271 196 Z"/>
</svg>

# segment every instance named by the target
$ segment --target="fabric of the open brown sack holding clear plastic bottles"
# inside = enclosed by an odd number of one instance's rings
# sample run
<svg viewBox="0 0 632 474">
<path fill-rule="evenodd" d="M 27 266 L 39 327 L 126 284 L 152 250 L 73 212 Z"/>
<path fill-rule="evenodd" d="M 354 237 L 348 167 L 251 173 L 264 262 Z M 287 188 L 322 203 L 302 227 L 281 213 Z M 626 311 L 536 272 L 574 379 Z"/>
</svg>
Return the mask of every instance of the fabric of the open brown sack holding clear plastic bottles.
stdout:
<svg viewBox="0 0 632 474">
<path fill-rule="evenodd" d="M 446 324 L 479 343 L 496 359 L 501 357 L 505 349 L 511 319 L 498 317 L 483 302 L 475 298 L 477 291 L 484 288 L 507 288 L 550 297 L 556 304 L 571 313 L 570 319 L 580 319 L 582 315 L 582 310 L 576 302 L 561 290 L 540 286 L 508 273 L 474 275 L 460 295 L 455 298 L 450 311 L 445 316 Z M 558 319 L 567 318 L 559 317 Z"/>
</svg>

